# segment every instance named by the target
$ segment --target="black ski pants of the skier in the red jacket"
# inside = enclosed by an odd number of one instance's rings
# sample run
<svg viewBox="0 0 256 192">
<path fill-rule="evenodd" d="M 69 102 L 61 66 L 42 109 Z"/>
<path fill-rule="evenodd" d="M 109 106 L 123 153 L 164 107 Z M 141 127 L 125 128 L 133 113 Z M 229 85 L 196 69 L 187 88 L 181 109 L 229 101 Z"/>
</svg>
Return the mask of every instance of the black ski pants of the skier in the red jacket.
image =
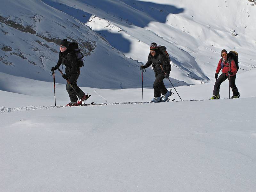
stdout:
<svg viewBox="0 0 256 192">
<path fill-rule="evenodd" d="M 213 95 L 217 96 L 220 94 L 220 84 L 222 84 L 226 79 L 228 79 L 228 76 L 225 73 L 222 73 L 219 76 L 213 88 Z M 232 89 L 233 95 L 239 95 L 238 89 L 236 87 L 236 75 L 230 76 L 230 88 Z"/>
</svg>

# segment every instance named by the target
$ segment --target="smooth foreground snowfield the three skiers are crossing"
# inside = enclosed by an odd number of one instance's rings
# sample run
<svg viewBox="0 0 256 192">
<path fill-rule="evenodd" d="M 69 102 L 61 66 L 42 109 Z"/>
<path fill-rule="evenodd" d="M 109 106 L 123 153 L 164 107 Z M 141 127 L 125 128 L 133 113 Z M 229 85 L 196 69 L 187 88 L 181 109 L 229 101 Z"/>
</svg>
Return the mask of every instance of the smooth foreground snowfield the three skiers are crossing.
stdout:
<svg viewBox="0 0 256 192">
<path fill-rule="evenodd" d="M 256 71 L 247 73 L 244 81 Z M 1 91 L 0 191 L 253 192 L 256 92 L 243 80 L 237 86 L 247 98 L 116 105 L 141 101 L 141 89 L 83 88 L 88 102 L 109 105 L 71 108 L 52 106 L 46 82 L 40 96 Z M 183 100 L 207 99 L 212 86 L 177 91 Z M 228 97 L 228 82 L 220 93 Z M 152 94 L 145 89 L 144 100 Z M 57 105 L 66 95 L 57 84 Z"/>
</svg>

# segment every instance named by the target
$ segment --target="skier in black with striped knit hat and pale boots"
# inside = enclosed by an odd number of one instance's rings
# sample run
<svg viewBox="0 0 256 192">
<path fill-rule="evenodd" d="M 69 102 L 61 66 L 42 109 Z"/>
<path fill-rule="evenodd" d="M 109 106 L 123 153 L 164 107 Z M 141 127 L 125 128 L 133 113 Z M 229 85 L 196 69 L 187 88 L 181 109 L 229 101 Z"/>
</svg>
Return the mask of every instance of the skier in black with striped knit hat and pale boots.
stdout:
<svg viewBox="0 0 256 192">
<path fill-rule="evenodd" d="M 148 68 L 152 65 L 153 70 L 155 71 L 156 80 L 153 84 L 154 87 L 154 98 L 152 102 L 165 101 L 171 95 L 171 93 L 164 86 L 164 78 L 170 76 L 171 64 L 166 61 L 166 57 L 162 52 L 159 51 L 156 43 L 152 43 L 150 46 L 150 53 L 148 55 L 148 62 L 145 65 L 140 66 L 140 70 Z M 164 68 L 164 71 L 161 69 L 160 65 Z M 166 73 L 166 75 L 164 74 Z M 161 93 L 164 95 L 162 100 L 160 98 Z"/>
</svg>

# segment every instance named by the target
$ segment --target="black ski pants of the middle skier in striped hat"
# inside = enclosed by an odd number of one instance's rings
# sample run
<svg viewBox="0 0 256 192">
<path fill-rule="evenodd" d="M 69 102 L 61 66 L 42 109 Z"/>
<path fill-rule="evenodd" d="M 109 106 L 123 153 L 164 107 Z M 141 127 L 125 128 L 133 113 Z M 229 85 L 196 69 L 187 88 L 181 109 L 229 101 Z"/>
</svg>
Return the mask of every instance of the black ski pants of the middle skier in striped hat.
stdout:
<svg viewBox="0 0 256 192">
<path fill-rule="evenodd" d="M 162 95 L 164 95 L 165 93 L 167 93 L 167 89 L 166 87 L 164 86 L 164 73 L 160 73 L 160 74 L 157 74 L 155 72 L 155 76 L 156 76 L 156 80 L 153 84 L 153 88 L 154 88 L 154 97 L 160 97 L 161 96 L 161 93 Z"/>
</svg>

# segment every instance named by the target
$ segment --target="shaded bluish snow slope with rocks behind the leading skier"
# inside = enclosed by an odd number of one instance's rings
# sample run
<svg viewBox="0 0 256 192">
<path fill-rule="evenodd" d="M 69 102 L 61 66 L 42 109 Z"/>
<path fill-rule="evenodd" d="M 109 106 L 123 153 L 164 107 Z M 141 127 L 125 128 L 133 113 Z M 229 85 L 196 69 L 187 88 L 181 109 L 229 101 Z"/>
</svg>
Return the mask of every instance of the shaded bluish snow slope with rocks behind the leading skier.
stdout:
<svg viewBox="0 0 256 192">
<path fill-rule="evenodd" d="M 2 73 L 52 81 L 49 72 L 58 61 L 59 43 L 68 37 L 80 44 L 86 56 L 81 86 L 121 89 L 140 84 L 140 64 L 75 18 L 42 1 L 4 1 L 0 9 Z M 56 73 L 56 81 L 61 82 L 60 73 Z"/>
</svg>

